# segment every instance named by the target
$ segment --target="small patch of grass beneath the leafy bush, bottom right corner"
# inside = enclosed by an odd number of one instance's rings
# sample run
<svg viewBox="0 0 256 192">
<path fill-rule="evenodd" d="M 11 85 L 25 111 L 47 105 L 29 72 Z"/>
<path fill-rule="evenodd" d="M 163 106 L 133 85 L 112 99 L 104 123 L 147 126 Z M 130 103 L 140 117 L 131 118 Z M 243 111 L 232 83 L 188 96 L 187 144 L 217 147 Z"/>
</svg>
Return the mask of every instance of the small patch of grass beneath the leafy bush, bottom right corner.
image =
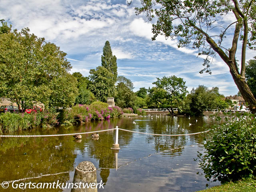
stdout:
<svg viewBox="0 0 256 192">
<path fill-rule="evenodd" d="M 247 179 L 237 182 L 229 182 L 220 186 L 215 186 L 200 192 L 255 192 L 256 179 Z"/>
</svg>

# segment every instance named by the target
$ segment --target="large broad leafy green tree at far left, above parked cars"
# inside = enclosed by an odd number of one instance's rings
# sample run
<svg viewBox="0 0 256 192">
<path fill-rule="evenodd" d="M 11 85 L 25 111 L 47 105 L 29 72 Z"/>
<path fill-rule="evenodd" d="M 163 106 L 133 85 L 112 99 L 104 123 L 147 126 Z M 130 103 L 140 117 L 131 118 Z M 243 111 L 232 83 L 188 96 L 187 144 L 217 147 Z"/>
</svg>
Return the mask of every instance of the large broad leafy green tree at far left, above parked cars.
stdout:
<svg viewBox="0 0 256 192">
<path fill-rule="evenodd" d="M 71 65 L 65 58 L 66 53 L 29 32 L 24 28 L 21 32 L 0 34 L 1 96 L 15 102 L 20 110 L 38 102 L 46 108 L 55 102 L 57 106 L 71 104 L 74 98 L 69 94 L 67 98 L 64 90 L 58 90 L 65 86 L 70 94 L 77 91 L 76 79 L 68 73 Z M 58 96 L 58 101 L 52 95 Z"/>
</svg>

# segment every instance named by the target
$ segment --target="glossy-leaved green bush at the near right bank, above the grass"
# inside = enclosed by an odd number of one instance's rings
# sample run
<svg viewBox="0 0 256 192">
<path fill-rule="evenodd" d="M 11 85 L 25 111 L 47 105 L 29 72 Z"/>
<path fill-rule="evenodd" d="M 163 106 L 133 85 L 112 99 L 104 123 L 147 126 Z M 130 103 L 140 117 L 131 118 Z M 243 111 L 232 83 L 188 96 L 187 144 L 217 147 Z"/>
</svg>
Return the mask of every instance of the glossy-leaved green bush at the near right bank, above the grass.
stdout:
<svg viewBox="0 0 256 192">
<path fill-rule="evenodd" d="M 236 181 L 256 175 L 256 118 L 254 114 L 224 113 L 206 138 L 205 154 L 198 152 L 199 165 L 209 180 Z"/>
</svg>

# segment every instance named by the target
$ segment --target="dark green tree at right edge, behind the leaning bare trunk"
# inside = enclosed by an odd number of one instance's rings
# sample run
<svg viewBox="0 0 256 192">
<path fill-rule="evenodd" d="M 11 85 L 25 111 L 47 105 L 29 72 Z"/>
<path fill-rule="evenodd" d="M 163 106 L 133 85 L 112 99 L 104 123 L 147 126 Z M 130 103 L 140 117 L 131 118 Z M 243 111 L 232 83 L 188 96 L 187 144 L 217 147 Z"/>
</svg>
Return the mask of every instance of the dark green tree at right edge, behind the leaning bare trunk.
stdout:
<svg viewBox="0 0 256 192">
<path fill-rule="evenodd" d="M 252 94 L 256 98 L 256 57 L 254 57 L 254 60 L 249 60 L 245 68 L 245 78 L 247 84 L 252 91 Z"/>
</svg>

